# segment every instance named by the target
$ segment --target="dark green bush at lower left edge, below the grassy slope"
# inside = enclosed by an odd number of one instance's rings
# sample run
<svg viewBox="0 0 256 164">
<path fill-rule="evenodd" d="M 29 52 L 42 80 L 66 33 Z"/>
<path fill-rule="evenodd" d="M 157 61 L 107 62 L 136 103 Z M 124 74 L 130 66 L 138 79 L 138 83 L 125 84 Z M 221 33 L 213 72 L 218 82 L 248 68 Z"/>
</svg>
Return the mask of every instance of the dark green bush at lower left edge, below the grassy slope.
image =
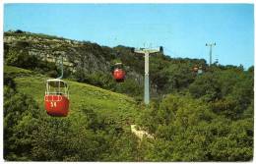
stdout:
<svg viewBox="0 0 256 164">
<path fill-rule="evenodd" d="M 37 128 L 38 106 L 32 97 L 5 86 L 4 158 L 32 160 L 32 132 Z"/>
</svg>

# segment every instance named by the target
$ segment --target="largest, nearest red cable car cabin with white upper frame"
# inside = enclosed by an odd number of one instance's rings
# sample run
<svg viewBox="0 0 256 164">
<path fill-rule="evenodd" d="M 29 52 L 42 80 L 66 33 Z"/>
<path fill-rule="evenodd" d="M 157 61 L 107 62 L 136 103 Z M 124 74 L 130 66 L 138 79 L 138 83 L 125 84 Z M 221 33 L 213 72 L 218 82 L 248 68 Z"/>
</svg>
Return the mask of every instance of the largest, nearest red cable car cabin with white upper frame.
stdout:
<svg viewBox="0 0 256 164">
<path fill-rule="evenodd" d="M 66 117 L 69 112 L 69 92 L 66 82 L 47 80 L 44 107 L 48 115 Z"/>
</svg>

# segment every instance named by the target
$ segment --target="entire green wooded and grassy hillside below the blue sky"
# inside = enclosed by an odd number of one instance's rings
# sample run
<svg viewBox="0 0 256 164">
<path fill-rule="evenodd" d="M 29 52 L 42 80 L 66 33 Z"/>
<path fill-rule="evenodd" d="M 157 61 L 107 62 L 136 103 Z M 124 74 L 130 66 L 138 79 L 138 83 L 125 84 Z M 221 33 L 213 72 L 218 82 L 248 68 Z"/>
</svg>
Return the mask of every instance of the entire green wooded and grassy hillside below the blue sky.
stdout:
<svg viewBox="0 0 256 164">
<path fill-rule="evenodd" d="M 64 57 L 70 114 L 49 117 L 45 81 Z M 250 161 L 254 67 L 204 59 L 150 58 L 151 103 L 143 99 L 144 59 L 133 47 L 100 46 L 22 30 L 4 33 L 4 158 L 8 161 Z M 125 82 L 111 77 L 122 62 Z M 202 72 L 195 71 L 195 66 Z M 134 125 L 137 125 L 137 129 Z M 146 134 L 136 137 L 133 132 Z M 141 135 L 142 136 L 142 135 Z"/>
</svg>

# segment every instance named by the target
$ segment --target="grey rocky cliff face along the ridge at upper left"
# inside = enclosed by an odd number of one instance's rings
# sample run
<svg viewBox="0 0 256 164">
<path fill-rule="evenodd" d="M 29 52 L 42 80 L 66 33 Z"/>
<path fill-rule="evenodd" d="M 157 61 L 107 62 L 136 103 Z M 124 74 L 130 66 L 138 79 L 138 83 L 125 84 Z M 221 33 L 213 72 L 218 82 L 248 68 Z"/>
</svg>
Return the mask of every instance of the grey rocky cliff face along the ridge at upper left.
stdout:
<svg viewBox="0 0 256 164">
<path fill-rule="evenodd" d="M 47 62 L 56 63 L 62 56 L 64 66 L 72 72 L 83 69 L 86 73 L 98 71 L 106 73 L 110 68 L 110 60 L 115 57 L 114 55 L 108 56 L 109 54 L 95 43 L 29 32 L 5 32 L 4 44 L 9 49 L 28 49 L 29 55 L 34 55 Z M 111 48 L 107 49 L 111 50 Z M 5 49 L 5 55 L 8 55 L 7 53 Z"/>
</svg>

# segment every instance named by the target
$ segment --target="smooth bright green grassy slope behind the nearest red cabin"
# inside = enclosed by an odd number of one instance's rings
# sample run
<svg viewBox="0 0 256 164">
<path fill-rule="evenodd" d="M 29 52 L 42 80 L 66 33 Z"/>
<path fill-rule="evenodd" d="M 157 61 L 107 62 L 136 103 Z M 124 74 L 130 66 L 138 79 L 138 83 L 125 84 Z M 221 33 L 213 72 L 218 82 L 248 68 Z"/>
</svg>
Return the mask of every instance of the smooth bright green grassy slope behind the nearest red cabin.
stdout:
<svg viewBox="0 0 256 164">
<path fill-rule="evenodd" d="M 10 66 L 4 67 L 4 73 L 15 77 L 18 91 L 31 95 L 38 102 L 40 109 L 44 110 L 43 96 L 47 77 Z M 94 109 L 101 117 L 113 120 L 128 129 L 140 114 L 136 102 L 129 96 L 86 83 L 65 81 L 68 82 L 70 87 L 70 114 L 68 119 L 73 121 L 83 119 L 80 107 L 85 105 L 86 108 Z M 49 117 L 46 112 L 45 117 Z"/>
</svg>

